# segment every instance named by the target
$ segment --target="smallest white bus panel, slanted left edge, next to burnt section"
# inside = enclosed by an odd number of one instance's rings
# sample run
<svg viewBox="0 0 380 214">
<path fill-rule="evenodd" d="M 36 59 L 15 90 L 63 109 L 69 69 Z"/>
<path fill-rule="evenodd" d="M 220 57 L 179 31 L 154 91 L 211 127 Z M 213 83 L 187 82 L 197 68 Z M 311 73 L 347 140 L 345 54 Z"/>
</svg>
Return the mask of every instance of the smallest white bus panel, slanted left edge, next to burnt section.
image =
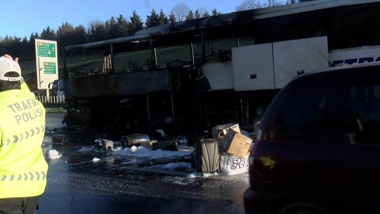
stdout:
<svg viewBox="0 0 380 214">
<path fill-rule="evenodd" d="M 217 62 L 202 66 L 211 90 L 233 89 L 232 62 Z"/>
</svg>

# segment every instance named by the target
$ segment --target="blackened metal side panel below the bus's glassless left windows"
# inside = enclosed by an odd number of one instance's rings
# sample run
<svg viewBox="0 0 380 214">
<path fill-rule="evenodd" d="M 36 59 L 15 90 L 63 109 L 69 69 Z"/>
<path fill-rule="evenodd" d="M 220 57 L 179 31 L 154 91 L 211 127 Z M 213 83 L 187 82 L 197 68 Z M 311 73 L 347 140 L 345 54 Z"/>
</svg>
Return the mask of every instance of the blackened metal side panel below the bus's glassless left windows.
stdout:
<svg viewBox="0 0 380 214">
<path fill-rule="evenodd" d="M 146 94 L 171 90 L 168 70 L 92 75 L 65 79 L 68 99 Z"/>
</svg>

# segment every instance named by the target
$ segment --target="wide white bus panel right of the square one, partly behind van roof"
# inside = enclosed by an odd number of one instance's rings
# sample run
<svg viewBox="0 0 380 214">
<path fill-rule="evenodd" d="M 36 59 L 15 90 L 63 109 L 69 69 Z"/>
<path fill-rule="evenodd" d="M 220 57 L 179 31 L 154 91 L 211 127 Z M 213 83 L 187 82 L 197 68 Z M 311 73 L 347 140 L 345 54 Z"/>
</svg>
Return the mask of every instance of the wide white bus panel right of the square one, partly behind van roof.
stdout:
<svg viewBox="0 0 380 214">
<path fill-rule="evenodd" d="M 310 72 L 329 67 L 327 37 L 273 43 L 276 88 L 288 84 L 297 71 Z"/>
</svg>

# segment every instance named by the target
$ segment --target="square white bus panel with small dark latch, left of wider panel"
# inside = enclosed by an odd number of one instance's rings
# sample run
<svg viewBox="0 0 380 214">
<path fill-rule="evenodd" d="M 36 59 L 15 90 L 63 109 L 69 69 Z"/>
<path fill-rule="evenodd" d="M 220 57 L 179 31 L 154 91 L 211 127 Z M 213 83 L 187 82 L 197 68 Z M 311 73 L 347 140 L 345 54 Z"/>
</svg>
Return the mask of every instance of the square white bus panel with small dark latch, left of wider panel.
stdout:
<svg viewBox="0 0 380 214">
<path fill-rule="evenodd" d="M 232 64 L 236 91 L 274 88 L 272 43 L 232 48 Z"/>
</svg>

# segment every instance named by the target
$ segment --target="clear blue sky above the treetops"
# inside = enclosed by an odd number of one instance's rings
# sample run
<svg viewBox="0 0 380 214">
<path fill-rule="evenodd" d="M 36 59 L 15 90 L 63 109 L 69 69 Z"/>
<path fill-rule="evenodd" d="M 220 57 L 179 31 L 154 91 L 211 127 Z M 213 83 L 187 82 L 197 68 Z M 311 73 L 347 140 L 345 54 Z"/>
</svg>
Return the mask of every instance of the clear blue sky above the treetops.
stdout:
<svg viewBox="0 0 380 214">
<path fill-rule="evenodd" d="M 152 8 L 168 14 L 176 3 L 186 3 L 191 9 L 214 7 L 222 13 L 233 12 L 243 0 L 1 0 L 0 37 L 28 37 L 46 26 L 55 31 L 62 22 L 87 28 L 89 21 L 106 21 L 111 16 L 131 16 L 133 10 L 145 22 Z"/>
</svg>

